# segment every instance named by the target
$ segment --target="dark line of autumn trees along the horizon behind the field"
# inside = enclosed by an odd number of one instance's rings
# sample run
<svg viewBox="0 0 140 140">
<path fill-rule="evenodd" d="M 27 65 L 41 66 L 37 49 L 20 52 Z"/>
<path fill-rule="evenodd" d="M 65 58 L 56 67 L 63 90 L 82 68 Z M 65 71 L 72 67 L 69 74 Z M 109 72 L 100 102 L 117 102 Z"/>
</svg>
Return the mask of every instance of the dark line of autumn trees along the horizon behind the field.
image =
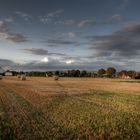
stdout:
<svg viewBox="0 0 140 140">
<path fill-rule="evenodd" d="M 52 76 L 59 76 L 59 77 L 108 77 L 108 78 L 140 78 L 140 73 L 134 71 L 134 70 L 121 70 L 117 72 L 117 70 L 114 67 L 109 67 L 107 69 L 101 68 L 97 71 L 87 71 L 87 70 L 67 70 L 67 71 L 30 71 L 30 72 L 16 72 L 11 71 L 13 73 L 13 76 L 19 75 L 19 74 L 26 74 L 30 77 L 52 77 Z"/>
</svg>

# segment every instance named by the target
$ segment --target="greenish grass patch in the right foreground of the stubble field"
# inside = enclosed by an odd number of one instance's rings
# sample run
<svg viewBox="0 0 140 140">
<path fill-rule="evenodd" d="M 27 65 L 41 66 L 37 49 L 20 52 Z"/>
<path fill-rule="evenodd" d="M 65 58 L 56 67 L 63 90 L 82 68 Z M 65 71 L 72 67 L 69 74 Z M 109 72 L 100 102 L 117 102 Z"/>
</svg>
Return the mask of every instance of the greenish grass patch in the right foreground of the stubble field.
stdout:
<svg viewBox="0 0 140 140">
<path fill-rule="evenodd" d="M 98 95 L 96 95 L 96 100 L 101 99 L 100 96 L 103 93 Z M 106 95 L 107 93 L 104 96 Z M 85 96 L 88 100 L 85 99 Z M 116 95 L 114 94 L 114 96 Z M 114 96 L 112 95 L 112 98 Z M 74 135 L 79 136 L 80 139 L 86 139 L 91 134 L 94 139 L 108 140 L 137 139 L 140 136 L 140 112 L 138 112 L 139 106 L 135 104 L 135 98 L 132 100 L 135 105 L 130 106 L 133 108 L 133 112 L 131 112 L 126 108 L 127 102 L 123 105 L 120 105 L 119 99 L 116 99 L 115 102 L 114 100 L 108 102 L 108 95 L 106 98 L 94 102 L 94 97 L 94 92 L 93 95 L 78 95 L 78 98 L 66 97 L 65 100 L 62 99 L 63 102 L 60 101 L 61 97 L 57 97 L 57 104 L 51 112 L 51 116 L 63 127 L 74 129 Z M 128 98 L 127 95 L 126 98 Z M 124 100 L 126 99 L 124 98 Z"/>
</svg>

